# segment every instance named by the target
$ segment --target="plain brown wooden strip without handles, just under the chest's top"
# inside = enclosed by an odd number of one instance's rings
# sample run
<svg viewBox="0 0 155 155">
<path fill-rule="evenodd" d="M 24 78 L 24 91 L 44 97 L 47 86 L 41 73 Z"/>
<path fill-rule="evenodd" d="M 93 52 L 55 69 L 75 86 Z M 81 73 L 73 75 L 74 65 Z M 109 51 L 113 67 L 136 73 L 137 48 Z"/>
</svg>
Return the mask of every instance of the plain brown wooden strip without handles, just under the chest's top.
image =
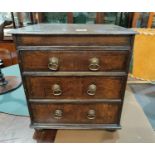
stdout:
<svg viewBox="0 0 155 155">
<path fill-rule="evenodd" d="M 29 46 L 56 46 L 56 45 L 102 45 L 102 46 L 127 46 L 130 45 L 130 36 L 17 36 L 18 45 Z"/>
</svg>

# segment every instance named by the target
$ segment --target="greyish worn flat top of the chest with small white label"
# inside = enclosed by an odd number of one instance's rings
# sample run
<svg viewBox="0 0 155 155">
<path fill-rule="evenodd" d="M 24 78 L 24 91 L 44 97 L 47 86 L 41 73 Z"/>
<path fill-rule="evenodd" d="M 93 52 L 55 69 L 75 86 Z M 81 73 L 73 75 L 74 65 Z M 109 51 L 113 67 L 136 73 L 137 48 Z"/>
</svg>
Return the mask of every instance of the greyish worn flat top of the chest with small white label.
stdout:
<svg viewBox="0 0 155 155">
<path fill-rule="evenodd" d="M 17 35 L 134 35 L 135 31 L 111 24 L 37 24 L 12 30 Z"/>
</svg>

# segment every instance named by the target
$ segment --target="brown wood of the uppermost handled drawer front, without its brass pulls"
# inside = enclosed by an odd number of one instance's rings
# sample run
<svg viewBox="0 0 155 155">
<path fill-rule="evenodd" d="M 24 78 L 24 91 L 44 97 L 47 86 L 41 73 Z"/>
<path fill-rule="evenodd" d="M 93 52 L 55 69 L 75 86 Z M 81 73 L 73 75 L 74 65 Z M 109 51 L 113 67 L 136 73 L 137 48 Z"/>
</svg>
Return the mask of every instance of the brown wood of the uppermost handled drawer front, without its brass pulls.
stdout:
<svg viewBox="0 0 155 155">
<path fill-rule="evenodd" d="M 49 58 L 59 59 L 59 71 L 90 71 L 90 59 L 98 58 L 97 71 L 126 71 L 128 51 L 22 51 L 24 71 L 50 71 Z M 82 56 L 81 56 L 82 54 Z M 33 60 L 33 61 L 32 61 Z M 116 61 L 117 60 L 117 61 Z"/>
</svg>

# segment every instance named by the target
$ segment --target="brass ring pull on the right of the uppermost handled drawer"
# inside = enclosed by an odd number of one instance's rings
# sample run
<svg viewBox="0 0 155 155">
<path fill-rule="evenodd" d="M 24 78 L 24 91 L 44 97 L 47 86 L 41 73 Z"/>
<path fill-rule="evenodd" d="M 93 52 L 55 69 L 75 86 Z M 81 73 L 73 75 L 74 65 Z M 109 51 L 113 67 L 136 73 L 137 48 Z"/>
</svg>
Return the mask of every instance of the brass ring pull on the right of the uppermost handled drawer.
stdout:
<svg viewBox="0 0 155 155">
<path fill-rule="evenodd" d="M 98 58 L 91 58 L 89 59 L 89 70 L 91 71 L 97 71 L 99 70 L 99 59 Z"/>
</svg>

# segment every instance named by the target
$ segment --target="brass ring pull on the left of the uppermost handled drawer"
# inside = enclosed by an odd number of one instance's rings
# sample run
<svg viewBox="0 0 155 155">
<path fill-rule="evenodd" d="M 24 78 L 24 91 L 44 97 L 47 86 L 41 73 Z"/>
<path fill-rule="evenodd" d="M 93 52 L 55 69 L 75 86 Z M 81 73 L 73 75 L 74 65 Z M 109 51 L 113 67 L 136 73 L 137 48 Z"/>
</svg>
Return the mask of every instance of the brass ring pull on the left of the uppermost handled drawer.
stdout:
<svg viewBox="0 0 155 155">
<path fill-rule="evenodd" d="M 56 57 L 49 58 L 48 68 L 52 71 L 57 71 L 59 68 L 59 59 Z"/>
</svg>

